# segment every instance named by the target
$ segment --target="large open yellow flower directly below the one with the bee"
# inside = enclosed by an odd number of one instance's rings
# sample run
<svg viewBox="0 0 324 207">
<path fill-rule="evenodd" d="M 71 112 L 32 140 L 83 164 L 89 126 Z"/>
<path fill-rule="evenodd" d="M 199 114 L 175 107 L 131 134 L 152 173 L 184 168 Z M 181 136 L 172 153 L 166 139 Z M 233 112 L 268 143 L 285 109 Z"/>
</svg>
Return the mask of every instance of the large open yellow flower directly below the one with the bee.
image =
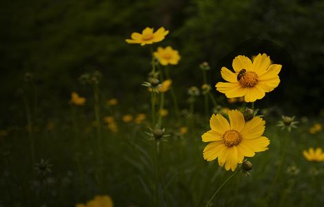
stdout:
<svg viewBox="0 0 324 207">
<path fill-rule="evenodd" d="M 267 150 L 270 140 L 263 137 L 265 121 L 254 117 L 245 122 L 239 110 L 229 110 L 230 123 L 222 115 L 212 115 L 211 130 L 201 138 L 204 142 L 212 141 L 203 150 L 203 158 L 212 161 L 218 157 L 219 165 L 234 171 L 244 157 L 253 157 L 255 152 Z"/>
</svg>

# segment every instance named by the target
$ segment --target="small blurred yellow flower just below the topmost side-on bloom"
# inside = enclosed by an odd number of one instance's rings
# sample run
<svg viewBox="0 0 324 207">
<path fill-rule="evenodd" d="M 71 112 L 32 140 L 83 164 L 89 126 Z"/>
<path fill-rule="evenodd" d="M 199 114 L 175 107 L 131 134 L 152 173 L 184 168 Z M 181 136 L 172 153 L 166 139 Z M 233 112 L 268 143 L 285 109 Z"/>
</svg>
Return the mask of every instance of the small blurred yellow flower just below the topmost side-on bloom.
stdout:
<svg viewBox="0 0 324 207">
<path fill-rule="evenodd" d="M 181 58 L 178 50 L 173 50 L 170 46 L 157 48 L 157 51 L 154 52 L 154 57 L 159 60 L 162 66 L 176 65 Z"/>
</svg>

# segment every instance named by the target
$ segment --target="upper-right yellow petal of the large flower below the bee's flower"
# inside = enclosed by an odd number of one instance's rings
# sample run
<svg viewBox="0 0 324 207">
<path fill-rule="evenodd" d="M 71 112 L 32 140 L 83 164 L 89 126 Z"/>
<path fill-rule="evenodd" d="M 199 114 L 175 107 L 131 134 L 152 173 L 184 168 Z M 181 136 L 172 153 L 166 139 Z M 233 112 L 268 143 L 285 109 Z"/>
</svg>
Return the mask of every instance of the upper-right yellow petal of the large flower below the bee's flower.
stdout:
<svg viewBox="0 0 324 207">
<path fill-rule="evenodd" d="M 260 117 L 253 117 L 245 123 L 245 127 L 241 131 L 243 139 L 256 139 L 263 135 L 265 130 L 265 121 Z"/>
</svg>

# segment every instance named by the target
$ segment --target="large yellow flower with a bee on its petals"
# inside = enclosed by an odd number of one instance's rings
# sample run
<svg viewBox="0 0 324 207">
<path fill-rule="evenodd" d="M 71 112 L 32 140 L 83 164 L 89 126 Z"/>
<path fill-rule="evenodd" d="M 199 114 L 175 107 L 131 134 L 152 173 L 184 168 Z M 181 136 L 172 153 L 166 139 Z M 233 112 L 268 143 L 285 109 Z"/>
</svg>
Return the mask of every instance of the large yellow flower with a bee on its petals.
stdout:
<svg viewBox="0 0 324 207">
<path fill-rule="evenodd" d="M 239 55 L 232 66 L 235 72 L 221 68 L 221 76 L 230 83 L 216 84 L 216 90 L 223 92 L 227 98 L 244 97 L 246 102 L 254 102 L 279 85 L 278 74 L 282 66 L 270 65 L 270 57 L 266 54 L 257 55 L 253 63 L 248 57 Z"/>
</svg>

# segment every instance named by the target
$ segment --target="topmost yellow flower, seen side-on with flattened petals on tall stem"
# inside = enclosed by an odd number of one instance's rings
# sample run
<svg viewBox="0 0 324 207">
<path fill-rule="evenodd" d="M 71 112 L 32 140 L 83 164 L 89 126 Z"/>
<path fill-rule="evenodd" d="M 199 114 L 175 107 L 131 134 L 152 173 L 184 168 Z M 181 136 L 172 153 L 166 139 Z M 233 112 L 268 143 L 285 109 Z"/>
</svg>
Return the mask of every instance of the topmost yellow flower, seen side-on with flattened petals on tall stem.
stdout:
<svg viewBox="0 0 324 207">
<path fill-rule="evenodd" d="M 165 35 L 169 33 L 169 31 L 165 30 L 163 27 L 156 30 L 156 32 L 153 31 L 153 28 L 145 28 L 142 34 L 133 32 L 131 35 L 132 39 L 126 39 L 126 42 L 139 43 L 141 46 L 145 46 L 146 44 L 162 41 L 165 38 Z"/>
</svg>

